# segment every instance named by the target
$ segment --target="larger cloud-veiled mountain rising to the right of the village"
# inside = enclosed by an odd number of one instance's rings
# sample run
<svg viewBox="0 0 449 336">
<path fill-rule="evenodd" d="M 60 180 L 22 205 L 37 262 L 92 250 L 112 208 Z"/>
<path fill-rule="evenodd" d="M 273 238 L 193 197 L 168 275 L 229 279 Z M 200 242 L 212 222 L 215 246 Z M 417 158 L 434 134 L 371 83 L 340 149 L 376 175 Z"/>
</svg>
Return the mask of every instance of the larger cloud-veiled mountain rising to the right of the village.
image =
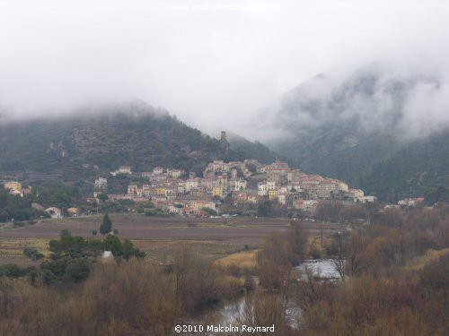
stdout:
<svg viewBox="0 0 449 336">
<path fill-rule="evenodd" d="M 305 171 L 394 201 L 449 182 L 446 90 L 436 75 L 371 64 L 304 82 L 256 127 L 271 130 L 266 143 Z"/>
</svg>

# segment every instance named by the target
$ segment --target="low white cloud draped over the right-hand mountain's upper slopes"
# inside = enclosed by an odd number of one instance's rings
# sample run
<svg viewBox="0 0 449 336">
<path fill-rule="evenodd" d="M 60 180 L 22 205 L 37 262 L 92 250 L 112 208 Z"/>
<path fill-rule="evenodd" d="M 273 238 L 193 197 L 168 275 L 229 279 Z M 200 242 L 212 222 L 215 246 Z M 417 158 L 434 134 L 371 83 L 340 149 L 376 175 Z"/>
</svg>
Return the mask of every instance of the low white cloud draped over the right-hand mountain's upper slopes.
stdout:
<svg viewBox="0 0 449 336">
<path fill-rule="evenodd" d="M 348 133 L 427 136 L 449 127 L 448 88 L 445 69 L 374 63 L 323 73 L 261 110 L 254 134 L 272 142 L 354 125 Z"/>
</svg>

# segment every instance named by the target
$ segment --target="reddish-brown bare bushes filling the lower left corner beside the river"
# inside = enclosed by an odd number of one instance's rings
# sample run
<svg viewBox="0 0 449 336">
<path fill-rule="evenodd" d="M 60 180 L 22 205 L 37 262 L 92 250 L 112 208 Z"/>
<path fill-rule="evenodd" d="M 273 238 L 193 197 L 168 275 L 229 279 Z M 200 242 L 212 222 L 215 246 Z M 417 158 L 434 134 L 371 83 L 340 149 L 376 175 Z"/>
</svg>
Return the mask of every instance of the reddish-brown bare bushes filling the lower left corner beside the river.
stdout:
<svg viewBox="0 0 449 336">
<path fill-rule="evenodd" d="M 80 280 L 85 260 L 68 263 L 66 277 Z M 54 261 L 44 269 L 61 274 L 62 266 Z M 89 277 L 75 284 L 2 278 L 0 334 L 170 335 L 181 315 L 198 313 L 240 290 L 211 260 L 184 246 L 170 268 L 133 258 L 95 263 Z"/>
</svg>

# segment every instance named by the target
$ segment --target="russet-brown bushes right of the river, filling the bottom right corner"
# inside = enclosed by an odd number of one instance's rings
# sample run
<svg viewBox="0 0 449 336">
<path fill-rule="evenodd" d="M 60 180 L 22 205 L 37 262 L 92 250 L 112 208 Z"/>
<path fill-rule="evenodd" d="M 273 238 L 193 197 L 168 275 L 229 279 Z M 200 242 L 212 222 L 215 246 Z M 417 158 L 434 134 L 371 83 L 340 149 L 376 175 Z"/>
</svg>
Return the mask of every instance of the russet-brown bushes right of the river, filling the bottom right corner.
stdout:
<svg viewBox="0 0 449 336">
<path fill-rule="evenodd" d="M 449 254 L 437 262 L 420 256 L 449 246 L 447 210 L 385 211 L 373 225 L 336 236 L 348 278 L 302 306 L 304 334 L 445 334 Z M 409 267 L 418 257 L 423 266 Z"/>
</svg>

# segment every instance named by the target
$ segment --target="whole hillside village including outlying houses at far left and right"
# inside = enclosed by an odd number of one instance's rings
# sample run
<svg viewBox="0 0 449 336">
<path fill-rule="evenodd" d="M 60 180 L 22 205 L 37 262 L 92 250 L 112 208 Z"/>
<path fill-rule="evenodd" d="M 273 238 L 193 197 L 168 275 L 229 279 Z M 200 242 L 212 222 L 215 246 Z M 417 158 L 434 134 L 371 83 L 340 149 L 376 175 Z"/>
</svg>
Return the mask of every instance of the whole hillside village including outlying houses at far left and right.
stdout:
<svg viewBox="0 0 449 336">
<path fill-rule="evenodd" d="M 90 167 L 83 165 L 83 168 Z M 92 168 L 98 173 L 85 180 L 88 188 L 84 193 L 70 186 L 51 188 L 29 185 L 26 180 L 23 180 L 25 184 L 4 180 L 0 192 L 4 190 L 13 199 L 0 208 L 0 222 L 44 217 L 60 219 L 109 211 L 137 211 L 148 216 L 226 217 L 242 214 L 330 219 L 322 212 L 334 205 L 338 209 L 330 211 L 332 219 L 336 220 L 341 207 L 378 204 L 375 196 L 350 188 L 343 181 L 306 174 L 279 160 L 263 164 L 257 159 L 227 162 L 215 159 L 197 173 L 164 167 L 136 172 L 130 166 L 120 166 L 105 174 L 100 173 L 98 167 Z M 423 204 L 422 197 L 409 198 L 396 204 L 387 203 L 384 208 L 407 210 Z"/>
</svg>

